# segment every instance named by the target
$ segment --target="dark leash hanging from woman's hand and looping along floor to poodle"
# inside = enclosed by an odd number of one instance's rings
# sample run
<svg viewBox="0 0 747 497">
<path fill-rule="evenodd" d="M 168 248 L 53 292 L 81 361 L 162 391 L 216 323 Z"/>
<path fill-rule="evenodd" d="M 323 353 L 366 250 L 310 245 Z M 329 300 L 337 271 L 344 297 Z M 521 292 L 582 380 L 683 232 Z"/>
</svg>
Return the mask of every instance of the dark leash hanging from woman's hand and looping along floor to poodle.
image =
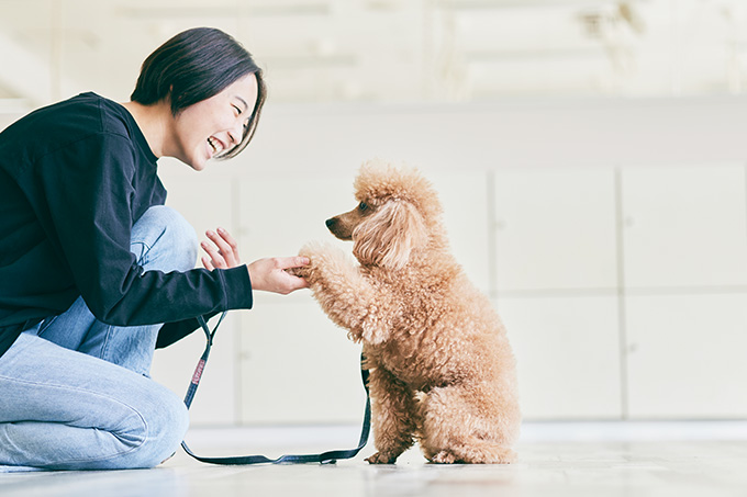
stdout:
<svg viewBox="0 0 747 497">
<path fill-rule="evenodd" d="M 208 327 L 208 324 L 205 323 L 204 318 L 202 316 L 199 316 L 197 319 L 200 323 L 200 326 L 202 327 L 202 330 L 205 334 L 205 340 L 208 341 L 205 346 L 205 350 L 202 353 L 202 357 L 200 358 L 200 361 L 197 363 L 197 368 L 194 369 L 194 374 L 192 375 L 192 382 L 189 384 L 189 388 L 187 389 L 187 395 L 185 396 L 185 404 L 187 405 L 187 408 L 192 404 L 192 399 L 194 398 L 194 393 L 197 392 L 197 387 L 200 385 L 200 379 L 202 377 L 202 372 L 204 371 L 205 363 L 208 362 L 208 357 L 210 355 L 210 349 L 213 346 L 213 338 L 215 337 L 215 331 L 218 330 L 218 327 L 221 325 L 221 321 L 223 321 L 223 318 L 225 317 L 226 313 L 224 312 L 220 319 L 218 320 L 218 324 L 211 331 L 210 328 Z M 360 452 L 360 449 L 363 449 L 366 445 L 366 442 L 368 441 L 368 434 L 370 432 L 370 427 L 371 427 L 371 399 L 368 393 L 368 370 L 364 366 L 364 355 L 360 355 L 360 375 L 363 377 L 364 382 L 364 388 L 366 388 L 366 413 L 364 414 L 364 423 L 363 428 L 360 430 L 360 441 L 358 442 L 358 447 L 355 449 L 348 449 L 348 450 L 336 450 L 336 451 L 327 451 L 323 452 L 321 454 L 301 454 L 301 455 L 296 455 L 296 454 L 286 454 L 281 455 L 278 459 L 269 459 L 264 455 L 236 455 L 236 456 L 228 456 L 228 458 L 203 458 L 200 455 L 196 455 L 189 447 L 187 447 L 187 442 L 182 441 L 181 442 L 181 448 L 187 452 L 189 455 L 192 458 L 197 459 L 200 462 L 203 463 L 210 463 L 210 464 L 222 464 L 222 465 L 244 465 L 244 464 L 261 464 L 261 463 L 269 463 L 269 464 L 305 464 L 305 463 L 320 463 L 320 464 L 334 464 L 338 460 L 343 459 L 352 459 L 355 458 L 358 452 Z"/>
</svg>

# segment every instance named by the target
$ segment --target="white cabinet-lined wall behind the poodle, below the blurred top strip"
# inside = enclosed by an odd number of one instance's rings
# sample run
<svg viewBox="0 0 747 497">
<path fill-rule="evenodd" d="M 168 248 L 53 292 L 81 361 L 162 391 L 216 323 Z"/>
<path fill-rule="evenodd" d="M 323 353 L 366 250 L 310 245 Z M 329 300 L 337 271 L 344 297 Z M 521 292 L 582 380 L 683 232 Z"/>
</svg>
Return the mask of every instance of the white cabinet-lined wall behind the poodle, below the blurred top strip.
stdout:
<svg viewBox="0 0 747 497">
<path fill-rule="evenodd" d="M 161 174 L 248 262 L 332 241 L 363 160 L 417 166 L 506 323 L 527 419 L 744 418 L 746 132 L 747 99 L 270 104 L 241 157 Z M 154 376 L 182 394 L 201 349 L 157 352 Z M 258 293 L 219 332 L 193 422 L 358 422 L 358 353 L 308 292 Z"/>
</svg>

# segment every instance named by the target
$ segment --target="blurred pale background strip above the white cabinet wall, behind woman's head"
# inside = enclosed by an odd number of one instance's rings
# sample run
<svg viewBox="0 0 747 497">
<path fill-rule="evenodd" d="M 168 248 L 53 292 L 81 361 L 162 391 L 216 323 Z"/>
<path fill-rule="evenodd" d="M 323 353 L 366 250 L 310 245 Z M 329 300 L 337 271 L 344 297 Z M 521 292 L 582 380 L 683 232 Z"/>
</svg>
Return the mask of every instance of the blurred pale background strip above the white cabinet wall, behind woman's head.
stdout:
<svg viewBox="0 0 747 497">
<path fill-rule="evenodd" d="M 126 100 L 197 25 L 239 39 L 275 102 L 747 91 L 744 0 L 0 0 L 0 111 Z"/>
</svg>

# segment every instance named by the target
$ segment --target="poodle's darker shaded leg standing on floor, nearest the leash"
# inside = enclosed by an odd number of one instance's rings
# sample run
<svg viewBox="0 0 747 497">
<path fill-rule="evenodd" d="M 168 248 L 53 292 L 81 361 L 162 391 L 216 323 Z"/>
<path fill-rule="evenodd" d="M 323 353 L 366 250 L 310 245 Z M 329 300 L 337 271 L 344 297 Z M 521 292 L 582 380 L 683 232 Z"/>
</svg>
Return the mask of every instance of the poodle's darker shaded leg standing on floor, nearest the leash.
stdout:
<svg viewBox="0 0 747 497">
<path fill-rule="evenodd" d="M 383 368 L 371 371 L 374 439 L 378 452 L 366 459 L 371 464 L 393 464 L 414 443 L 415 403 L 412 391 Z"/>
</svg>

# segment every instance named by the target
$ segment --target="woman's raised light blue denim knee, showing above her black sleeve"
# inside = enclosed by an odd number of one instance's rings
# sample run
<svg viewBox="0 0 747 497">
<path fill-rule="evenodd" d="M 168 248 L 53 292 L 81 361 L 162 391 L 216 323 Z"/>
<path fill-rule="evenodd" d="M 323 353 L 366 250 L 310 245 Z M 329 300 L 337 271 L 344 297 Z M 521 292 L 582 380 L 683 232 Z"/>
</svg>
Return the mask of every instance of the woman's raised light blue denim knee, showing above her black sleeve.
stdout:
<svg viewBox="0 0 747 497">
<path fill-rule="evenodd" d="M 198 238 L 181 214 L 154 205 L 133 226 L 131 250 L 146 271 L 188 271 L 197 261 Z"/>
</svg>

